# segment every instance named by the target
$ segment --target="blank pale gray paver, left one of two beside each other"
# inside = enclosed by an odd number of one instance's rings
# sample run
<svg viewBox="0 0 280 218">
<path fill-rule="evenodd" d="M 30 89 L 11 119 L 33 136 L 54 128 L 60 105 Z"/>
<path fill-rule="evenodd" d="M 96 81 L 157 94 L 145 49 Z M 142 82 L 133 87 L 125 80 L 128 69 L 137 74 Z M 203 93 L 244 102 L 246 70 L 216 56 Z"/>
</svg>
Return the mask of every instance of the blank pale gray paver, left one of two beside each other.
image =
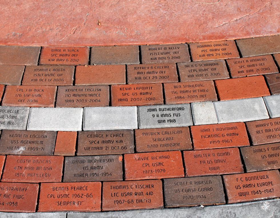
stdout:
<svg viewBox="0 0 280 218">
<path fill-rule="evenodd" d="M 81 131 L 83 108 L 33 107 L 30 109 L 27 130 Z"/>
</svg>

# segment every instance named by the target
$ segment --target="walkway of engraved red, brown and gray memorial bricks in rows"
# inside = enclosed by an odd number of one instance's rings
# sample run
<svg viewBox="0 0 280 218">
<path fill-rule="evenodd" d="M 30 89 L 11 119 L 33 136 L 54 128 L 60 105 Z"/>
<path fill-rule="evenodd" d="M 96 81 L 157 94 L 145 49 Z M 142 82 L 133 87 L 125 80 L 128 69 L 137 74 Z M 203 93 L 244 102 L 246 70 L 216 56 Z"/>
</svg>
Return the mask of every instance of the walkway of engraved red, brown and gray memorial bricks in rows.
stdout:
<svg viewBox="0 0 280 218">
<path fill-rule="evenodd" d="M 279 42 L 0 46 L 0 211 L 279 198 Z"/>
</svg>

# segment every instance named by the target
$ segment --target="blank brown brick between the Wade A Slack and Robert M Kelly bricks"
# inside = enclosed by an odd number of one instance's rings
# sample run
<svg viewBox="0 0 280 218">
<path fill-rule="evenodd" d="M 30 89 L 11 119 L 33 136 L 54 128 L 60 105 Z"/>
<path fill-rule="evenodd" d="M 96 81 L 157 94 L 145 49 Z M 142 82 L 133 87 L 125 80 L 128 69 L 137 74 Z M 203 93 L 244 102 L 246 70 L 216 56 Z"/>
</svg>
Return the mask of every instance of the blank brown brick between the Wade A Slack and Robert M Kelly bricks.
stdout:
<svg viewBox="0 0 280 218">
<path fill-rule="evenodd" d="M 139 46 L 91 47 L 93 64 L 139 64 Z"/>
</svg>

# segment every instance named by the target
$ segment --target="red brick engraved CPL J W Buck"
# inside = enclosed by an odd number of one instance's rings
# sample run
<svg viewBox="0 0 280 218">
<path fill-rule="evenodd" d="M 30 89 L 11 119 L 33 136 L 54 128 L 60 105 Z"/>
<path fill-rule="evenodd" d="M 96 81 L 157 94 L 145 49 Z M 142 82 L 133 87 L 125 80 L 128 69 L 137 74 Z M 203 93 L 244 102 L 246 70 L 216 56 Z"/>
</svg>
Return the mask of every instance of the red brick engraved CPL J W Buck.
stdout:
<svg viewBox="0 0 280 218">
<path fill-rule="evenodd" d="M 7 85 L 3 106 L 54 107 L 56 86 Z"/>
</svg>

